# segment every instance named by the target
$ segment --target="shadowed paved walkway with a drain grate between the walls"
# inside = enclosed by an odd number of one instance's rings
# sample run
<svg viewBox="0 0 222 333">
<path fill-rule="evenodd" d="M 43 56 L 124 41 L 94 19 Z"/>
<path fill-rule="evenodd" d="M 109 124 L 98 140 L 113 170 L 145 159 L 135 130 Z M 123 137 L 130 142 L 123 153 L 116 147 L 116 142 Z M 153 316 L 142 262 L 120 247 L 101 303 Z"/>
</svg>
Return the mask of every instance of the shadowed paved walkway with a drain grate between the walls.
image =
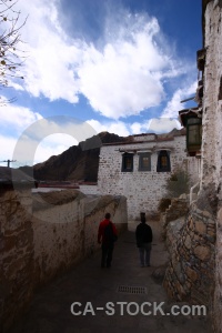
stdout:
<svg viewBox="0 0 222 333">
<path fill-rule="evenodd" d="M 154 230 L 151 268 L 139 265 L 134 225 L 131 225 L 115 245 L 111 269 L 100 268 L 100 253 L 84 260 L 38 291 L 28 313 L 10 333 L 211 333 L 205 316 L 162 315 L 161 311 L 154 315 L 155 304 L 164 302 L 161 309 L 165 313 L 172 304 L 168 303 L 162 285 L 152 278 L 152 272 L 165 263 L 168 254 L 157 224 L 151 225 Z M 82 304 L 73 307 L 82 314 L 71 313 L 73 302 Z M 142 309 L 143 302 L 150 302 L 151 306 L 147 304 Z M 152 314 L 145 315 L 141 310 L 152 311 Z"/>
</svg>

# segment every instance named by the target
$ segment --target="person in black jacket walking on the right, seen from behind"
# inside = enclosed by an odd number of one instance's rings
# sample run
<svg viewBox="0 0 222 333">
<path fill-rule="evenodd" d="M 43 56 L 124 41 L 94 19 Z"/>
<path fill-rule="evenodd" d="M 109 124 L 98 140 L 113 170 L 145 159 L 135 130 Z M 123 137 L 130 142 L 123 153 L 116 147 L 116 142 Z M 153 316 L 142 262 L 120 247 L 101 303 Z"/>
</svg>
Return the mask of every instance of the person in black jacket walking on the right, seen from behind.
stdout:
<svg viewBox="0 0 222 333">
<path fill-rule="evenodd" d="M 145 223 L 145 214 L 141 213 L 141 223 L 135 229 L 137 246 L 140 253 L 140 265 L 141 268 L 150 266 L 150 254 L 152 243 L 152 229 Z"/>
</svg>

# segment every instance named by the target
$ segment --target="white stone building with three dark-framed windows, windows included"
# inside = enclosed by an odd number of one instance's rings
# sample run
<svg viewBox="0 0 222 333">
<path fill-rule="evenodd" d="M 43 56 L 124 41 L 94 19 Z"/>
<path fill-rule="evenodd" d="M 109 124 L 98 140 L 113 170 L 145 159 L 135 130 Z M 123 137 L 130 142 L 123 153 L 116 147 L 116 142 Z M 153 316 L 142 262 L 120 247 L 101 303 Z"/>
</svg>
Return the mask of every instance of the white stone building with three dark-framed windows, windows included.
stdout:
<svg viewBox="0 0 222 333">
<path fill-rule="evenodd" d="M 186 158 L 184 129 L 174 130 L 171 135 L 129 138 L 128 142 L 101 147 L 98 190 L 101 194 L 125 195 L 128 219 L 134 220 L 141 211 L 157 214 L 165 180 L 178 165 L 183 163 L 196 176 L 198 163 L 195 158 Z"/>
</svg>

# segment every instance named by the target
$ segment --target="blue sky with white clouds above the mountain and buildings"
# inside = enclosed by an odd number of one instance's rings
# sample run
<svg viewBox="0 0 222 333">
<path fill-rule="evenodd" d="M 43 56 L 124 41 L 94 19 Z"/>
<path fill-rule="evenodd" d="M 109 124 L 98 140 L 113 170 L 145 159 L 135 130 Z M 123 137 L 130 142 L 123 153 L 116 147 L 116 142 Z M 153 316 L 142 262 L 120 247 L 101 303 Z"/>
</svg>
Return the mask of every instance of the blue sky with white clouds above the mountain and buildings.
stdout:
<svg viewBox="0 0 222 333">
<path fill-rule="evenodd" d="M 102 131 L 180 129 L 178 112 L 196 107 L 181 100 L 198 87 L 201 0 L 19 0 L 13 9 L 18 27 L 27 21 L 23 79 L 0 89 L 1 102 L 14 99 L 0 105 L 0 161 L 12 168 Z"/>
</svg>

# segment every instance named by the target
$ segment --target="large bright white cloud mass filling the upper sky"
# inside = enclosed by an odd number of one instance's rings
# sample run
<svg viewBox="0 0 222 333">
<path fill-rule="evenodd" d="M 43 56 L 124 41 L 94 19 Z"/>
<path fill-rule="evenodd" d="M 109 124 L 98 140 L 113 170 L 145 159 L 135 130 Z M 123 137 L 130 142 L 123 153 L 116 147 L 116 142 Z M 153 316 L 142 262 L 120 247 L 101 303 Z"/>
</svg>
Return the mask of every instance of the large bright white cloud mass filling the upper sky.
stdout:
<svg viewBox="0 0 222 333">
<path fill-rule="evenodd" d="M 56 0 L 18 3 L 23 17 L 29 13 L 22 29 L 29 50 L 23 87 L 32 95 L 77 103 L 82 93 L 95 111 L 119 119 L 159 105 L 163 80 L 184 73 L 155 18 L 127 11 L 122 21 L 109 17 L 98 48 L 67 36 L 57 6 Z"/>
</svg>

